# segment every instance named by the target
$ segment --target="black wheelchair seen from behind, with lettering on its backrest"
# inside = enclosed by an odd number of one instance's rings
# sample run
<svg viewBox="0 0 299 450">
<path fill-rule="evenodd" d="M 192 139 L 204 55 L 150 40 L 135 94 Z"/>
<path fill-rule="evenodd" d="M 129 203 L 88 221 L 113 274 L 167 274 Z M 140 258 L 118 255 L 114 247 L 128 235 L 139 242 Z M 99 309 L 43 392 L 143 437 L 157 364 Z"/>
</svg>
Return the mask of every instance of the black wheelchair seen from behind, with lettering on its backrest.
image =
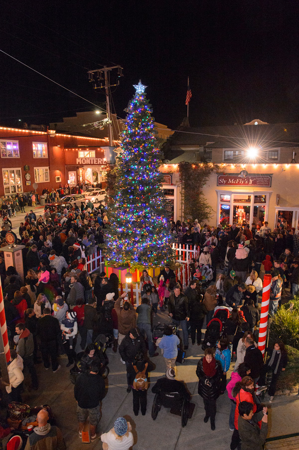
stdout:
<svg viewBox="0 0 299 450">
<path fill-rule="evenodd" d="M 173 408 L 179 410 L 181 416 L 181 425 L 185 427 L 188 422 L 190 400 L 184 399 L 178 392 L 159 391 L 153 399 L 151 408 L 152 420 L 156 420 L 161 406 L 164 408 Z"/>
</svg>

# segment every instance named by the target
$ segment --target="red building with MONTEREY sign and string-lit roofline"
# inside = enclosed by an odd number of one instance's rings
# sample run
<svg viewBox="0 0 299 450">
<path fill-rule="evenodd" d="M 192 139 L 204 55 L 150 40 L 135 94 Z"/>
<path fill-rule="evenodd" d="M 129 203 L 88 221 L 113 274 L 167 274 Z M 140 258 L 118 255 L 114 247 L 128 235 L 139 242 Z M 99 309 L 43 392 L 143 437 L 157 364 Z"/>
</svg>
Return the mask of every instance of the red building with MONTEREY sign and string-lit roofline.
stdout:
<svg viewBox="0 0 299 450">
<path fill-rule="evenodd" d="M 60 184 L 100 182 L 111 159 L 107 145 L 107 139 L 0 126 L 0 196 L 32 191 L 34 183 L 41 194 Z"/>
</svg>

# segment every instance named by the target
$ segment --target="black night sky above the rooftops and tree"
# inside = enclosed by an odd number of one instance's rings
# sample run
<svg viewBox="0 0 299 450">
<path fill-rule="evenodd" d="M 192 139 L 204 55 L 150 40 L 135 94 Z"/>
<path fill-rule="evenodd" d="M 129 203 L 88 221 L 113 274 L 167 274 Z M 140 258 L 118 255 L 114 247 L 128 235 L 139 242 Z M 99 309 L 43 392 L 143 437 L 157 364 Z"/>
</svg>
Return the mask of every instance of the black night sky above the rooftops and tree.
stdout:
<svg viewBox="0 0 299 450">
<path fill-rule="evenodd" d="M 2 0 L 0 49 L 104 107 L 87 70 L 121 64 L 120 117 L 141 78 L 155 120 L 177 128 L 189 76 L 191 126 L 296 122 L 298 13 L 296 0 Z M 93 108 L 2 53 L 0 61 L 1 125 Z"/>
</svg>

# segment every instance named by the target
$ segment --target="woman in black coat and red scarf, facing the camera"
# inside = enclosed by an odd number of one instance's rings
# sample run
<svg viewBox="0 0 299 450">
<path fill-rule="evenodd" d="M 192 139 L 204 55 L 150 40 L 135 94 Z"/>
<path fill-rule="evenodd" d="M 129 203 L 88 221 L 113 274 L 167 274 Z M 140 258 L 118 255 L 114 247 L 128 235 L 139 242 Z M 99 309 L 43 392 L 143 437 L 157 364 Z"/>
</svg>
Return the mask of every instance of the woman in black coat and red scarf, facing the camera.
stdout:
<svg viewBox="0 0 299 450">
<path fill-rule="evenodd" d="M 214 358 L 213 349 L 205 349 L 204 357 L 198 361 L 198 394 L 202 397 L 205 409 L 204 423 L 211 420 L 211 430 L 215 430 L 216 401 L 220 395 L 221 364 Z"/>
</svg>

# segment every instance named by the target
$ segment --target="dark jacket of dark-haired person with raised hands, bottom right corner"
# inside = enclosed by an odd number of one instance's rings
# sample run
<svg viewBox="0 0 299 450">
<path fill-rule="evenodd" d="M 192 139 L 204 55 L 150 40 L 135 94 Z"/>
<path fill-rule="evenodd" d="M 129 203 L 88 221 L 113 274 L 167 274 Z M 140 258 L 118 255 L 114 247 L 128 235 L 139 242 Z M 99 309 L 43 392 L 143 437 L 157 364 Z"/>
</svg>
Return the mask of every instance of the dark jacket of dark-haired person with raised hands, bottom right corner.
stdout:
<svg viewBox="0 0 299 450">
<path fill-rule="evenodd" d="M 238 431 L 242 442 L 242 450 L 263 450 L 264 444 L 268 433 L 268 424 L 262 422 L 261 429 L 257 425 L 257 422 L 261 421 L 263 418 L 263 411 L 256 413 L 252 417 L 254 424 L 243 419 L 243 417 L 238 417 Z"/>
</svg>

